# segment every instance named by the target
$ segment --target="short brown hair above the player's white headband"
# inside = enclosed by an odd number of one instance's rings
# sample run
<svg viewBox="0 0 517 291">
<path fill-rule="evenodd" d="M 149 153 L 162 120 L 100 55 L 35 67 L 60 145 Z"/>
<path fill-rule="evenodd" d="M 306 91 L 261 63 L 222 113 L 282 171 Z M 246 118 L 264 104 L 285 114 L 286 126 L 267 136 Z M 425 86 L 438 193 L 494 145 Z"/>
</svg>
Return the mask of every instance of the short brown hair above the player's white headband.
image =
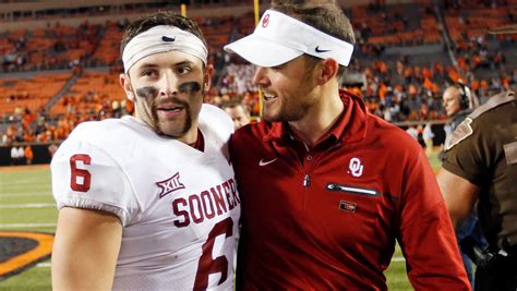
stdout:
<svg viewBox="0 0 517 291">
<path fill-rule="evenodd" d="M 201 32 L 200 26 L 197 26 L 195 21 L 182 16 L 176 12 L 159 11 L 140 17 L 136 21 L 132 22 L 130 25 L 128 25 L 128 27 L 125 27 L 124 33 L 122 35 L 122 41 L 120 43 L 120 56 L 122 56 L 125 46 L 131 39 L 133 39 L 133 37 L 158 25 L 172 25 L 182 31 L 189 32 L 197 36 L 201 41 L 203 41 L 205 47 L 208 48 L 205 36 L 203 35 L 203 32 Z"/>
</svg>

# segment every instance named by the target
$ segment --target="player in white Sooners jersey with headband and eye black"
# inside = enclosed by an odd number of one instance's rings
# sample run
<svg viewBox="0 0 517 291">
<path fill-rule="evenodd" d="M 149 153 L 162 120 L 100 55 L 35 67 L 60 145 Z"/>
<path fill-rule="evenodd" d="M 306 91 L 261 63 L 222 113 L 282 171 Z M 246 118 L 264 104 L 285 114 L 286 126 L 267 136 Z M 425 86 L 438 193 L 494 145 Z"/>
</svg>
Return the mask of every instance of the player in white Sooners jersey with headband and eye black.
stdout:
<svg viewBox="0 0 517 291">
<path fill-rule="evenodd" d="M 135 117 L 80 124 L 56 153 L 57 290 L 232 290 L 233 124 L 202 105 L 213 73 L 190 19 L 132 23 L 120 83 Z"/>
</svg>

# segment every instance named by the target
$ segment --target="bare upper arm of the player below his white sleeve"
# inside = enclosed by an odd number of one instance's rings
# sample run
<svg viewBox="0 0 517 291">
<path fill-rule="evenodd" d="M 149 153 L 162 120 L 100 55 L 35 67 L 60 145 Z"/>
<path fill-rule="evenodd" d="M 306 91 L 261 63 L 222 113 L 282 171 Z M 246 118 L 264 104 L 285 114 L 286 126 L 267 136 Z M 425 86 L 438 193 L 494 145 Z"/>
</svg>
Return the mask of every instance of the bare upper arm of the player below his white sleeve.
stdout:
<svg viewBox="0 0 517 291">
<path fill-rule="evenodd" d="M 52 250 L 52 289 L 110 290 L 121 241 L 117 216 L 61 208 Z"/>
</svg>

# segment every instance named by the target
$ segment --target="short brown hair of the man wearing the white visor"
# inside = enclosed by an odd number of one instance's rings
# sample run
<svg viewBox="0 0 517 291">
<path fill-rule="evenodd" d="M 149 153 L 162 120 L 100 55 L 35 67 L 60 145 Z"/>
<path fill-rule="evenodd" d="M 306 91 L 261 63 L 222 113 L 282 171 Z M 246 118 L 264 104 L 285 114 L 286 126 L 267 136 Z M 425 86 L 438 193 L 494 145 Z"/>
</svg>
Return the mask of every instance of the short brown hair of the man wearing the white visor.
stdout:
<svg viewBox="0 0 517 291">
<path fill-rule="evenodd" d="M 278 12 L 297 19 L 312 27 L 345 40 L 356 44 L 350 20 L 334 0 L 273 0 L 272 8 Z M 305 54 L 310 65 L 320 61 L 318 58 Z M 345 66 L 339 65 L 337 77 L 345 73 Z"/>
</svg>

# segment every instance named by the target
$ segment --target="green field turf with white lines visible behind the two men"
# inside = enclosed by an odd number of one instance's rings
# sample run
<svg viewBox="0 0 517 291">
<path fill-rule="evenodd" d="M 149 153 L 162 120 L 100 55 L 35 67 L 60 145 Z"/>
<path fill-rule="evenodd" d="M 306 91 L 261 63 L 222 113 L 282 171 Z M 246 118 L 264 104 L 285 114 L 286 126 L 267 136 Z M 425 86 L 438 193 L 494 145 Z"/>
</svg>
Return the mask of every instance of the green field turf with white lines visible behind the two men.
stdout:
<svg viewBox="0 0 517 291">
<path fill-rule="evenodd" d="M 58 213 L 55 206 L 47 206 L 49 204 L 53 204 L 53 199 L 48 168 L 0 169 L 0 231 L 53 233 Z M 389 290 L 412 290 L 398 246 L 394 258 L 386 271 Z M 46 260 L 0 281 L 0 290 L 51 290 L 49 266 L 50 260 Z"/>
</svg>

